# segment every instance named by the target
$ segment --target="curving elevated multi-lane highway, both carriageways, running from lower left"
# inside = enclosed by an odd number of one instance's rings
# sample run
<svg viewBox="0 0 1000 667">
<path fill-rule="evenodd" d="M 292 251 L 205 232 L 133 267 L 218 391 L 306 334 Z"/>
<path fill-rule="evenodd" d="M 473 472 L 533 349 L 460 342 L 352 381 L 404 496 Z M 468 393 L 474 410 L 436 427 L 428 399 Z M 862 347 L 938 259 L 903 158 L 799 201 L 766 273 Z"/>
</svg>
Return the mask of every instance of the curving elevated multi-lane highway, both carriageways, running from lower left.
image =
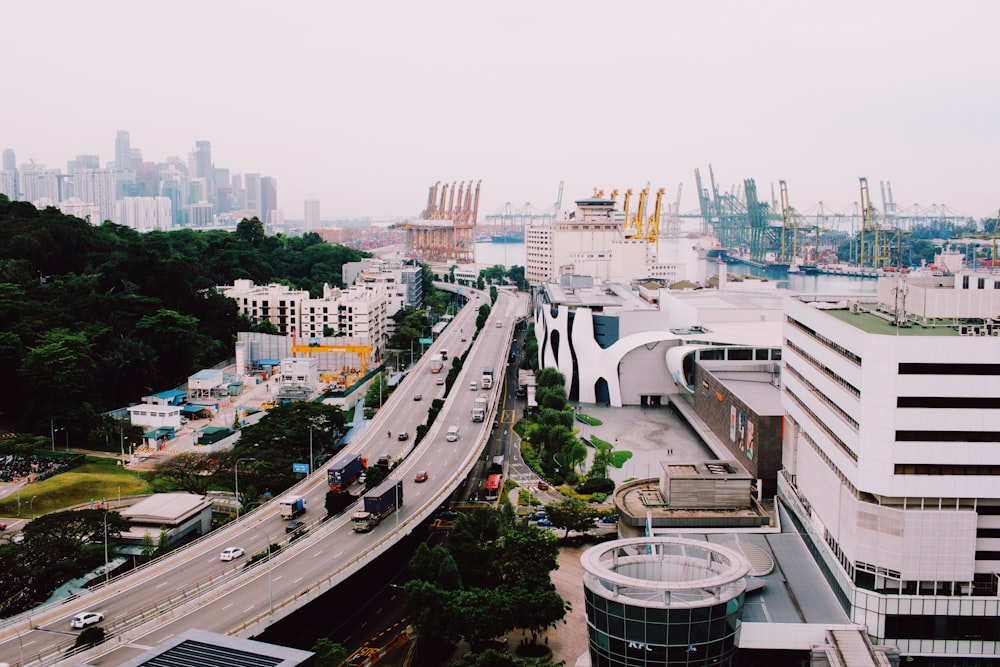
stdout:
<svg viewBox="0 0 1000 667">
<path fill-rule="evenodd" d="M 478 382 L 486 366 L 496 369 L 500 379 L 514 323 L 527 311 L 524 295 L 499 295 L 445 408 L 424 440 L 414 445 L 416 427 L 426 421 L 431 400 L 444 395 L 445 387 L 436 383 L 440 375 L 428 371 L 429 357 L 447 348 L 446 372 L 451 357 L 473 344 L 476 311 L 485 297 L 473 292 L 470 298 L 468 307 L 459 311 L 429 354 L 410 370 L 371 425 L 343 450 L 358 452 L 369 460 L 383 454 L 403 458 L 391 474 L 403 480 L 401 511 L 371 533 L 352 531 L 350 511 L 323 521 L 327 485 L 326 469 L 320 468 L 294 489 L 307 498 L 304 520 L 308 531 L 302 537 L 286 542 L 285 522 L 278 516 L 276 504 L 261 506 L 239 522 L 105 586 L 5 621 L 0 625 L 0 662 L 34 666 L 85 661 L 111 666 L 188 628 L 254 636 L 330 590 L 412 531 L 447 500 L 476 462 L 495 418 L 495 396 L 501 391 L 501 382 L 490 392 L 494 399 L 491 411 L 481 423 L 471 421 L 471 411 L 482 390 L 471 391 L 469 382 Z M 414 400 L 417 393 L 421 400 Z M 457 442 L 445 439 L 451 425 L 459 427 Z M 397 440 L 400 430 L 410 433 L 408 441 Z M 422 470 L 429 473 L 429 479 L 414 482 L 415 473 Z M 270 561 L 244 568 L 250 554 L 276 543 L 282 543 L 282 548 Z M 219 561 L 219 552 L 228 546 L 242 547 L 248 555 Z M 112 638 L 68 660 L 63 651 L 72 646 L 77 634 L 70 630 L 69 621 L 81 611 L 103 614 L 101 625 Z"/>
</svg>

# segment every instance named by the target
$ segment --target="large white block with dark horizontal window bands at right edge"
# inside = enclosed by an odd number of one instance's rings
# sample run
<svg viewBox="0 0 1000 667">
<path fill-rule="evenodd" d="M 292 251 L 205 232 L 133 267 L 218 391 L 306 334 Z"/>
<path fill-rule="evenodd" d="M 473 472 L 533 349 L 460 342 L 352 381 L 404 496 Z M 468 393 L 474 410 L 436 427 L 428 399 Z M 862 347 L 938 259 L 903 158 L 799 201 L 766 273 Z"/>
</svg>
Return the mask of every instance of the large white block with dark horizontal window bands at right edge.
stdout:
<svg viewBox="0 0 1000 667">
<path fill-rule="evenodd" d="M 852 620 L 921 664 L 1000 654 L 998 298 L 967 271 L 785 306 L 780 494 Z"/>
</svg>

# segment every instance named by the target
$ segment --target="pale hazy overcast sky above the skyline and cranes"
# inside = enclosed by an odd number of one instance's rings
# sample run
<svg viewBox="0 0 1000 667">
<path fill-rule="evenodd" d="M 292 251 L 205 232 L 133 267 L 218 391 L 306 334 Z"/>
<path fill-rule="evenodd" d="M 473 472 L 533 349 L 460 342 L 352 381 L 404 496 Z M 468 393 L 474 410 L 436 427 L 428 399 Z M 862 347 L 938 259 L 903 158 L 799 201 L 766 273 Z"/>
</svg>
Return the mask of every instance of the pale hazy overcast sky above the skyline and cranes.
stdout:
<svg viewBox="0 0 1000 667">
<path fill-rule="evenodd" d="M 903 209 L 1000 208 L 993 0 L 31 0 L 3 22 L 19 164 L 103 164 L 117 130 L 146 161 L 208 140 L 287 219 L 417 215 L 437 181 L 482 181 L 480 221 L 560 183 L 564 207 L 682 185 L 688 212 L 709 165 L 803 212 L 850 212 L 862 176 L 879 207 L 887 181 Z"/>
</svg>

